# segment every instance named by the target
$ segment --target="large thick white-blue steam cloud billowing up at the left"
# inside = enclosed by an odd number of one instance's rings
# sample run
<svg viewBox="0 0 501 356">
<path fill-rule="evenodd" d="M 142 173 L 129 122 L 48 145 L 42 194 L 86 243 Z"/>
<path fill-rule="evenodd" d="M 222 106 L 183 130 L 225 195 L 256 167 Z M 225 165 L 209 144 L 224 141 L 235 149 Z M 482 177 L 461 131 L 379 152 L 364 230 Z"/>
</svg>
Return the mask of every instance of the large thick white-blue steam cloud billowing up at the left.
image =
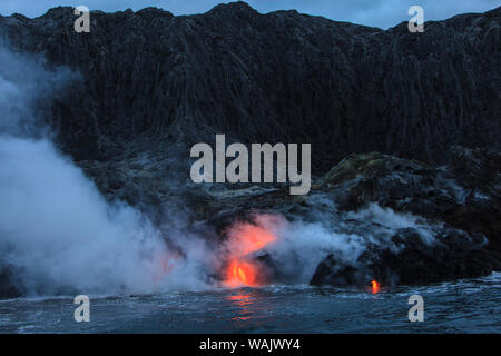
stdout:
<svg viewBox="0 0 501 356">
<path fill-rule="evenodd" d="M 204 261 L 191 256 L 197 243 L 171 268 L 161 234 L 131 207 L 107 202 L 40 129 L 35 107 L 78 76 L 6 46 L 0 68 L 0 267 L 13 267 L 28 295 L 144 293 L 176 287 L 173 279 L 193 287 L 189 276 L 164 275 L 194 275 L 186 261 Z"/>
</svg>

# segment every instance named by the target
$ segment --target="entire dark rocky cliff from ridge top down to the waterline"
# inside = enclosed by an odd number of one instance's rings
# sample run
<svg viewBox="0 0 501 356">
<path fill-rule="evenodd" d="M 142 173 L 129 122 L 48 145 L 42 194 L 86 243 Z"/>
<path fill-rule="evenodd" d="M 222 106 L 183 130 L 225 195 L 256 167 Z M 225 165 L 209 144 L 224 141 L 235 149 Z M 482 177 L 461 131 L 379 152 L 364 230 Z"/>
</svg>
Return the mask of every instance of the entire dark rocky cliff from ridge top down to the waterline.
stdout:
<svg viewBox="0 0 501 356">
<path fill-rule="evenodd" d="M 169 206 L 186 209 L 216 239 L 262 211 L 369 241 L 351 263 L 322 250 L 313 285 L 501 270 L 501 8 L 429 22 L 424 33 L 259 14 L 243 2 L 188 17 L 92 12 L 90 33 L 76 33 L 75 19 L 72 8 L 0 17 L 0 33 L 81 73 L 40 112 L 107 198 L 157 225 Z M 189 147 L 215 134 L 311 142 L 311 194 L 191 185 Z M 361 154 L 371 151 L 381 154 Z M 374 204 L 421 220 L 373 221 L 363 211 Z M 255 257 L 274 281 L 291 281 L 273 254 Z M 22 294 L 19 285 L 14 269 L 0 268 L 0 297 Z"/>
</svg>

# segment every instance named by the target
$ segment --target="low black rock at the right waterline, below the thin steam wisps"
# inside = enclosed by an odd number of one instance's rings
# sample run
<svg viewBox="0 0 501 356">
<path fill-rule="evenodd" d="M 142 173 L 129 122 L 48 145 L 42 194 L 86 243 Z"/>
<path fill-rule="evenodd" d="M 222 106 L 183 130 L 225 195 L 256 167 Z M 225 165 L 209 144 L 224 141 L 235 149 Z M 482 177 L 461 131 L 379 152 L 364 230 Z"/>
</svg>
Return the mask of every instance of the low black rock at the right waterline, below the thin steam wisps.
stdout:
<svg viewBox="0 0 501 356">
<path fill-rule="evenodd" d="M 392 243 L 400 248 L 370 246 L 352 265 L 328 255 L 316 268 L 314 286 L 365 286 L 377 280 L 384 286 L 426 284 L 491 274 L 499 263 L 484 248 L 483 236 L 444 227 L 432 244 L 415 229 L 397 231 Z"/>
</svg>

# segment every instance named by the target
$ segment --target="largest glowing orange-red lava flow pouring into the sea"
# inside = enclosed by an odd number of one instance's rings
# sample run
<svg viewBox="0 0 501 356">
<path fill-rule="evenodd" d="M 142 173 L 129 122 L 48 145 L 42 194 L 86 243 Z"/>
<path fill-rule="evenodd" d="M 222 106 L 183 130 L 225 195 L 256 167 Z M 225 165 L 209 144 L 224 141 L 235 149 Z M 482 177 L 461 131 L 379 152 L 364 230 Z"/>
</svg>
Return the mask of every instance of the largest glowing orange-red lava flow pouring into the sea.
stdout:
<svg viewBox="0 0 501 356">
<path fill-rule="evenodd" d="M 263 266 L 249 255 L 276 240 L 266 229 L 250 224 L 239 224 L 229 231 L 227 244 L 229 263 L 225 269 L 224 285 L 235 287 L 258 287 L 266 284 Z"/>
</svg>

